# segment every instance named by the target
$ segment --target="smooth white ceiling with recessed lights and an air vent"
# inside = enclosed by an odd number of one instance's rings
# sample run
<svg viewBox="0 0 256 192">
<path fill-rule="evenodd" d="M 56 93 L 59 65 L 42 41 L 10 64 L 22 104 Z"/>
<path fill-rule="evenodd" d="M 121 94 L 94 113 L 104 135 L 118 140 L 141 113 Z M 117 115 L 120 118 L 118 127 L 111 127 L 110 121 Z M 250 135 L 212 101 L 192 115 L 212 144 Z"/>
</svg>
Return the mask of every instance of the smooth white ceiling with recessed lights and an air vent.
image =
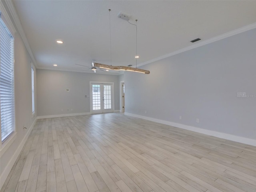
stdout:
<svg viewBox="0 0 256 192">
<path fill-rule="evenodd" d="M 14 0 L 38 68 L 78 70 L 92 60 L 135 65 L 136 28 L 117 17 L 138 19 L 138 64 L 256 22 L 256 1 Z M 56 44 L 61 39 L 64 44 Z M 199 41 L 199 42 L 200 42 Z M 196 44 L 198 42 L 195 42 Z M 58 64 L 54 67 L 53 64 Z M 85 71 L 91 72 L 91 70 Z"/>
</svg>

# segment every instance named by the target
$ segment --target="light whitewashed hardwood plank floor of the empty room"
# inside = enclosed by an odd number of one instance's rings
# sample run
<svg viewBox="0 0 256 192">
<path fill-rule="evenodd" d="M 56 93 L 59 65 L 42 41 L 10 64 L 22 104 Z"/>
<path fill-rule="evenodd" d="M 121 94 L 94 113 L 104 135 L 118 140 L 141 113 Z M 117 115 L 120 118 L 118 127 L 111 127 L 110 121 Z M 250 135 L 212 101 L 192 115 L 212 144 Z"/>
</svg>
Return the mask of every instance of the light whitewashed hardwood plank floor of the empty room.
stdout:
<svg viewBox="0 0 256 192">
<path fill-rule="evenodd" d="M 256 192 L 256 147 L 121 113 L 36 122 L 1 192 Z"/>
</svg>

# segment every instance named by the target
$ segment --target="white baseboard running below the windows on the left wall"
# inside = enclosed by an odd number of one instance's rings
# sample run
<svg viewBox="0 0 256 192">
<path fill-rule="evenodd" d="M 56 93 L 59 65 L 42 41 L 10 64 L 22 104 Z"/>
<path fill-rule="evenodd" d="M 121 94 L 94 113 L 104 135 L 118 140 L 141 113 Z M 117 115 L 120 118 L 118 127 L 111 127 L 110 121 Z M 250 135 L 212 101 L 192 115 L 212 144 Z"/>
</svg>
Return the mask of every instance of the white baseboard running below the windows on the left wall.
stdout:
<svg viewBox="0 0 256 192">
<path fill-rule="evenodd" d="M 22 139 L 22 142 L 18 145 L 18 148 L 16 149 L 16 151 L 13 153 L 12 157 L 10 158 L 7 166 L 5 167 L 4 171 L 2 172 L 1 176 L 0 176 L 0 189 L 2 189 L 2 186 L 4 185 L 5 180 L 7 179 L 9 173 L 12 170 L 12 166 L 14 165 L 14 163 L 16 162 L 23 146 L 25 145 L 28 136 L 30 135 L 34 125 L 36 123 L 36 119 L 34 120 L 34 122 L 32 123 L 32 125 L 30 126 L 30 128 L 28 129 L 28 132 L 26 133 L 26 135 L 24 136 L 24 138 Z"/>
</svg>

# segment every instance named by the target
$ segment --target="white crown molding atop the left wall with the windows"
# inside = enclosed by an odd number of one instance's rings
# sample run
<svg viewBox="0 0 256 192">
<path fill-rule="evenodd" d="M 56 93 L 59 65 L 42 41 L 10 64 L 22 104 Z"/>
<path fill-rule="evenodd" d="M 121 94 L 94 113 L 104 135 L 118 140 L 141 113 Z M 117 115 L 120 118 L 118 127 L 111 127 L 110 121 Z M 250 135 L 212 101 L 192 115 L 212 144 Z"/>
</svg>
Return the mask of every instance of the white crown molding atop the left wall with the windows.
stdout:
<svg viewBox="0 0 256 192">
<path fill-rule="evenodd" d="M 34 58 L 34 54 L 33 54 L 32 50 L 30 48 L 30 45 L 28 43 L 28 39 L 26 38 L 26 35 L 24 33 L 24 30 L 22 28 L 22 24 L 20 22 L 18 14 L 17 14 L 17 12 L 16 12 L 16 10 L 14 8 L 14 5 L 13 5 L 12 1 L 5 1 L 5 2 L 6 2 L 6 5 L 7 5 L 8 9 L 9 9 L 11 15 L 12 15 L 14 23 L 15 23 L 17 29 L 18 29 L 18 32 L 20 33 L 20 36 L 21 36 L 21 38 L 22 38 L 22 40 L 23 40 L 23 42 L 25 44 L 25 47 L 26 47 L 26 49 L 28 51 L 28 54 L 30 55 L 34 66 L 36 66 L 36 68 L 37 68 L 38 65 L 37 65 L 36 60 Z"/>
</svg>

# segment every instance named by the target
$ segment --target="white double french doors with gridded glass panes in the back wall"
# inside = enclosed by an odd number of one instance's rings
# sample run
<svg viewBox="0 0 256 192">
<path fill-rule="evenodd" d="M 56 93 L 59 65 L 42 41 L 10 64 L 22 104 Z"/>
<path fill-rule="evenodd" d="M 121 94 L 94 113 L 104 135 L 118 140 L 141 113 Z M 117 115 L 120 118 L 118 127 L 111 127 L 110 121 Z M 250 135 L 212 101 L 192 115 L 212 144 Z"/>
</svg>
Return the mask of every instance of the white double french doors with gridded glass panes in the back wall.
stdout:
<svg viewBox="0 0 256 192">
<path fill-rule="evenodd" d="M 113 110 L 114 83 L 90 82 L 91 113 L 109 113 Z"/>
</svg>

